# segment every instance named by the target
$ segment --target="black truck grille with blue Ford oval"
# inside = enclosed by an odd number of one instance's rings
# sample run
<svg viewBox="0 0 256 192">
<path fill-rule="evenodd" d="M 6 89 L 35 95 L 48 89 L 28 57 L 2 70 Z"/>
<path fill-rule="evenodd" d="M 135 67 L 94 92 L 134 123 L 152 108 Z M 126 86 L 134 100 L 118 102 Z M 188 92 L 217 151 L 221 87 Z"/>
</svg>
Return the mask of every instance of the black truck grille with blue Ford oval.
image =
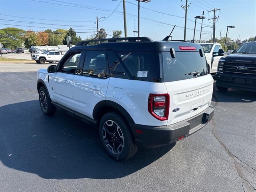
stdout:
<svg viewBox="0 0 256 192">
<path fill-rule="evenodd" d="M 244 66 L 247 70 L 239 70 L 239 66 Z M 224 62 L 223 72 L 256 75 L 256 62 Z"/>
</svg>

